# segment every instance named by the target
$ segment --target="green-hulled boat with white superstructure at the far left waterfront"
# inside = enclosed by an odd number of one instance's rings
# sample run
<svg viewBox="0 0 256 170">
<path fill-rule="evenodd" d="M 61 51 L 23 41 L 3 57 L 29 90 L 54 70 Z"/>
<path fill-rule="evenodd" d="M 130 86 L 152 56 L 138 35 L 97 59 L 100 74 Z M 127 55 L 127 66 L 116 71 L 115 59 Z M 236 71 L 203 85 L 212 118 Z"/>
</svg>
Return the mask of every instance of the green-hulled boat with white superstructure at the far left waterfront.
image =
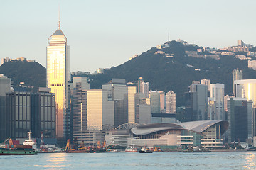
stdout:
<svg viewBox="0 0 256 170">
<path fill-rule="evenodd" d="M 0 155 L 34 155 L 37 154 L 38 152 L 33 149 L 34 142 L 31 140 L 31 132 L 28 132 L 29 139 L 27 140 L 28 142 L 26 145 L 14 145 L 12 142 L 11 138 L 9 137 L 7 140 L 5 140 L 3 143 L 0 145 Z M 9 145 L 6 145 L 5 142 L 9 140 Z"/>
</svg>

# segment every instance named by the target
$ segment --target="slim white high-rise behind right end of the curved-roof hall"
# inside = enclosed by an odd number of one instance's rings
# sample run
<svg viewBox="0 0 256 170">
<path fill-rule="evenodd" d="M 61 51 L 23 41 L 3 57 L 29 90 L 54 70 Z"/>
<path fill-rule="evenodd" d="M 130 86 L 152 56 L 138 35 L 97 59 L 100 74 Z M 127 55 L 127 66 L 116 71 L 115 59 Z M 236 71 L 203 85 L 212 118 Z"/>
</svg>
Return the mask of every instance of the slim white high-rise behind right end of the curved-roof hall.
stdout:
<svg viewBox="0 0 256 170">
<path fill-rule="evenodd" d="M 215 115 L 210 120 L 225 120 L 224 84 L 210 84 L 210 98 L 215 101 Z"/>
</svg>

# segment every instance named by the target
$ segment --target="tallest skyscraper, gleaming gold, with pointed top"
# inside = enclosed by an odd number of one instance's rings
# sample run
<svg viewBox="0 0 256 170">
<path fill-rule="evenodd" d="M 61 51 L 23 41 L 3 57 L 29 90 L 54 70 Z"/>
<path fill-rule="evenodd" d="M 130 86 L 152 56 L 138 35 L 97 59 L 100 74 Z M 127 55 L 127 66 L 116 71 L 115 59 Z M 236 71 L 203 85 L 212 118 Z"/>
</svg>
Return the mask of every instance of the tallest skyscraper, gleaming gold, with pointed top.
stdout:
<svg viewBox="0 0 256 170">
<path fill-rule="evenodd" d="M 48 38 L 47 46 L 47 81 L 46 86 L 55 93 L 56 100 L 56 136 L 66 136 L 66 107 L 68 98 L 68 81 L 70 81 L 70 47 L 67 45 L 67 38 L 58 29 Z"/>
</svg>

